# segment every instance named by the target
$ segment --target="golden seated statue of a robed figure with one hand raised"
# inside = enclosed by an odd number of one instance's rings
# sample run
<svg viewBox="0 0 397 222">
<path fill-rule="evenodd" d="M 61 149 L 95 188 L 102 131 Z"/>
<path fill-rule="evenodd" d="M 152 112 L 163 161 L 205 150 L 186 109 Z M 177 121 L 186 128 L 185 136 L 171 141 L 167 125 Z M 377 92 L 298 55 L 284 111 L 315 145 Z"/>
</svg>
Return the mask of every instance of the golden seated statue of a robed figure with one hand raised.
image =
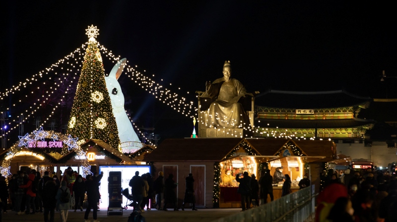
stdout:
<svg viewBox="0 0 397 222">
<path fill-rule="evenodd" d="M 247 113 L 238 101 L 246 94 L 253 94 L 247 93 L 243 84 L 231 78 L 231 74 L 230 61 L 225 61 L 223 77 L 212 84 L 205 82 L 205 91 L 213 101 L 208 111 L 209 128 L 243 128 L 250 124 Z"/>
</svg>

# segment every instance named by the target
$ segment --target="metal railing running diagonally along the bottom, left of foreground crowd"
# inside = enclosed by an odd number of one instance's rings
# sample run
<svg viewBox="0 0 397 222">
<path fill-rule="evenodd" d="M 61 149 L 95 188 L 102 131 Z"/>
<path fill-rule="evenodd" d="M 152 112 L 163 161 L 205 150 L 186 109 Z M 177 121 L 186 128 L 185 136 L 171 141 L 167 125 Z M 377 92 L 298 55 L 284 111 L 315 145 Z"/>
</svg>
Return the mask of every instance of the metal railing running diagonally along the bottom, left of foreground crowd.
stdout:
<svg viewBox="0 0 397 222">
<path fill-rule="evenodd" d="M 314 219 L 314 185 L 213 222 L 308 222 Z"/>
</svg>

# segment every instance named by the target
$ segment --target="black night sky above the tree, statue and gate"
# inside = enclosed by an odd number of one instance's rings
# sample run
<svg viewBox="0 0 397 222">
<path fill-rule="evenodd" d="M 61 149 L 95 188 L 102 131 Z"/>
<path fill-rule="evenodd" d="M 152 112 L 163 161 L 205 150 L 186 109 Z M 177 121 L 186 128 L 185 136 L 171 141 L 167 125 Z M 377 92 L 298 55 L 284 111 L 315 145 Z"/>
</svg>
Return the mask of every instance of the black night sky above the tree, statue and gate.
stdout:
<svg viewBox="0 0 397 222">
<path fill-rule="evenodd" d="M 345 89 L 360 96 L 397 97 L 397 79 L 380 82 L 379 77 L 382 70 L 397 76 L 397 18 L 392 4 L 100 2 L 4 2 L 0 89 L 51 66 L 87 42 L 85 29 L 93 24 L 99 29 L 100 44 L 154 74 L 155 81 L 163 79 L 167 88 L 191 95 L 195 103 L 192 92 L 204 90 L 205 81 L 222 77 L 225 60 L 231 61 L 233 77 L 250 91 Z M 104 67 L 109 72 L 113 65 L 105 62 Z M 126 108 L 139 126 L 156 128 L 162 138 L 190 136 L 191 119 L 155 100 L 126 76 L 119 82 L 131 102 Z M 1 101 L 1 108 L 10 103 Z"/>
</svg>

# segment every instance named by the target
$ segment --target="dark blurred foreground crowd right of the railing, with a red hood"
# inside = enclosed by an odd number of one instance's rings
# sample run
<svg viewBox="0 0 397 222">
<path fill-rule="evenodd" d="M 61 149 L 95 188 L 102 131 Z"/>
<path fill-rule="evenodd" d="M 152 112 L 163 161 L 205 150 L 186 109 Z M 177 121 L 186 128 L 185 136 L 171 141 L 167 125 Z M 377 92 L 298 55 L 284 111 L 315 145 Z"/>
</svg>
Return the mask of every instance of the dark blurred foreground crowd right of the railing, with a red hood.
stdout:
<svg viewBox="0 0 397 222">
<path fill-rule="evenodd" d="M 318 197 L 317 222 L 396 222 L 397 180 L 371 168 L 329 170 Z"/>
</svg>

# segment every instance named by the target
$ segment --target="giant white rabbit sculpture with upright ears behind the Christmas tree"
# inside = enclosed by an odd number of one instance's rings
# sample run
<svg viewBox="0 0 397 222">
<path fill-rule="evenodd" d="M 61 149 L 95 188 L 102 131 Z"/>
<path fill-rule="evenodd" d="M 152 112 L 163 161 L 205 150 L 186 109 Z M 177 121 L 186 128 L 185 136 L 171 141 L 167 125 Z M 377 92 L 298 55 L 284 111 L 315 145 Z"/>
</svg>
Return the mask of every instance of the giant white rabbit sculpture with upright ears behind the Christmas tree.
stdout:
<svg viewBox="0 0 397 222">
<path fill-rule="evenodd" d="M 109 76 L 105 76 L 106 87 L 109 91 L 110 99 L 112 100 L 113 115 L 116 118 L 117 129 L 119 131 L 120 142 L 123 149 L 139 149 L 139 138 L 132 128 L 130 119 L 124 109 L 124 94 L 121 91 L 119 82 L 117 81 L 123 73 L 126 66 L 126 58 L 118 61 L 113 67 Z M 123 146 L 124 142 L 138 142 L 131 143 L 133 146 Z"/>
</svg>

